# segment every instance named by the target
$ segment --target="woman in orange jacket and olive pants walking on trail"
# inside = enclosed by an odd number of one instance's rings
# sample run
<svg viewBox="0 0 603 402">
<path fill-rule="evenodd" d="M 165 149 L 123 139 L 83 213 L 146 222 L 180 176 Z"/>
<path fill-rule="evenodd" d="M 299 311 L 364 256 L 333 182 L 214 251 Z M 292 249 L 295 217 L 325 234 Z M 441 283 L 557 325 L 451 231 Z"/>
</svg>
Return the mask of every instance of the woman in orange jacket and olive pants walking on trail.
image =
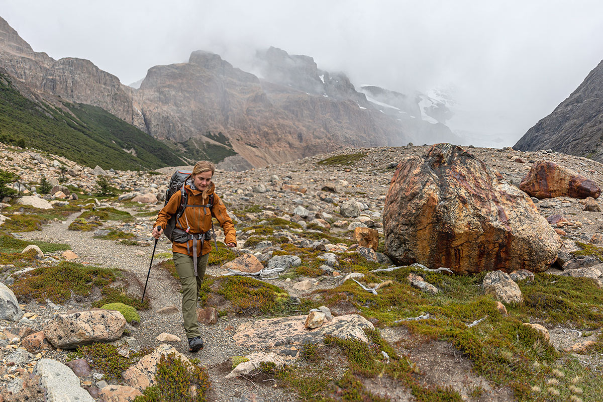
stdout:
<svg viewBox="0 0 603 402">
<path fill-rule="evenodd" d="M 213 164 L 202 160 L 197 162 L 191 176 L 186 179 L 188 201 L 184 213 L 177 218 L 174 228 L 175 241 L 172 242 L 174 265 L 182 284 L 182 315 L 190 352 L 197 352 L 203 348 L 203 339 L 197 321 L 197 297 L 207 267 L 207 259 L 212 251 L 211 242 L 204 241 L 210 238 L 212 216 L 218 219 L 224 229 L 226 245 L 236 247 L 235 225 L 226 212 L 226 207 L 214 192 L 213 172 Z M 163 233 L 169 218 L 177 213 L 181 198 L 180 191 L 175 192 L 165 207 L 159 211 L 153 226 L 153 237 L 156 239 L 159 239 Z"/>
</svg>

